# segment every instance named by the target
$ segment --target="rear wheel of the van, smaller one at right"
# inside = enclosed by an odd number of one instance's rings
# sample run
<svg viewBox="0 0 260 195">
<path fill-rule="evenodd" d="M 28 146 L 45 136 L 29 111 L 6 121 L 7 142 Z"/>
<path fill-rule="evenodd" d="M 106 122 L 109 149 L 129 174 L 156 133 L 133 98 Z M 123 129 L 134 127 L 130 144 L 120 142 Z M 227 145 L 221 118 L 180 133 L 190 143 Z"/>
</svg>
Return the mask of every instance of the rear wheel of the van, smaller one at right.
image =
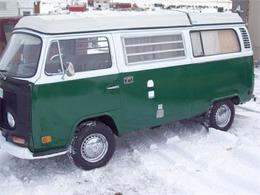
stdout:
<svg viewBox="0 0 260 195">
<path fill-rule="evenodd" d="M 231 100 L 214 103 L 209 113 L 209 125 L 215 129 L 228 131 L 233 124 L 235 107 Z"/>
</svg>

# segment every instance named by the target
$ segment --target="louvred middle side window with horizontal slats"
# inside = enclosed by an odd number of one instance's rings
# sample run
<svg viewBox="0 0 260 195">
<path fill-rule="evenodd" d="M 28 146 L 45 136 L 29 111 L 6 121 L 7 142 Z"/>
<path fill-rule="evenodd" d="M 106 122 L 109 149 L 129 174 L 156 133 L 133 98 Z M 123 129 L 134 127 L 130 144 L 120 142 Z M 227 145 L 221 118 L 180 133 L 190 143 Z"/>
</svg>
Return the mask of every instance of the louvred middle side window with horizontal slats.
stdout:
<svg viewBox="0 0 260 195">
<path fill-rule="evenodd" d="M 124 38 L 127 64 L 185 57 L 182 34 Z"/>
</svg>

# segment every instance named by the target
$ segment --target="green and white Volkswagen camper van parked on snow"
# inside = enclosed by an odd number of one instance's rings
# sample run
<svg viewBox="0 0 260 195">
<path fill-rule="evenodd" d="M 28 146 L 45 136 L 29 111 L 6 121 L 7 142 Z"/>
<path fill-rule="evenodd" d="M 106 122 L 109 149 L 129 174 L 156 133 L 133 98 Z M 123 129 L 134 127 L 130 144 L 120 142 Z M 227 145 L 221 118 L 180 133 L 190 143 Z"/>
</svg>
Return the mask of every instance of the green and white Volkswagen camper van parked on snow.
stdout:
<svg viewBox="0 0 260 195">
<path fill-rule="evenodd" d="M 227 131 L 253 96 L 237 14 L 90 12 L 24 17 L 0 61 L 0 143 L 23 159 L 104 166 L 115 136 L 201 116 Z"/>
</svg>

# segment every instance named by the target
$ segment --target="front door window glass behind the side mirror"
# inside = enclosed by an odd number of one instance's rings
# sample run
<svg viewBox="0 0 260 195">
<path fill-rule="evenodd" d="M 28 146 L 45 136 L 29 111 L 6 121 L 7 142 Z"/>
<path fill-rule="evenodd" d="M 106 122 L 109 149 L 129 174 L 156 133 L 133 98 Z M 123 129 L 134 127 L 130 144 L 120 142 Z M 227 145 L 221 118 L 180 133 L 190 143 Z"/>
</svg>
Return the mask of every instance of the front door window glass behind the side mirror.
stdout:
<svg viewBox="0 0 260 195">
<path fill-rule="evenodd" d="M 62 63 L 64 69 L 69 63 L 72 63 L 75 72 L 107 69 L 112 66 L 109 43 L 106 37 L 60 40 L 53 47 L 56 52 L 52 54 L 52 57 L 51 55 L 47 57 L 52 61 L 50 63 L 47 59 L 45 68 L 47 73 L 53 74 L 55 70 L 56 73 L 59 73 L 58 63 Z M 57 47 L 59 48 L 57 49 Z M 49 53 L 51 52 L 49 51 Z M 52 66 L 54 59 L 56 60 L 55 67 Z"/>
</svg>

